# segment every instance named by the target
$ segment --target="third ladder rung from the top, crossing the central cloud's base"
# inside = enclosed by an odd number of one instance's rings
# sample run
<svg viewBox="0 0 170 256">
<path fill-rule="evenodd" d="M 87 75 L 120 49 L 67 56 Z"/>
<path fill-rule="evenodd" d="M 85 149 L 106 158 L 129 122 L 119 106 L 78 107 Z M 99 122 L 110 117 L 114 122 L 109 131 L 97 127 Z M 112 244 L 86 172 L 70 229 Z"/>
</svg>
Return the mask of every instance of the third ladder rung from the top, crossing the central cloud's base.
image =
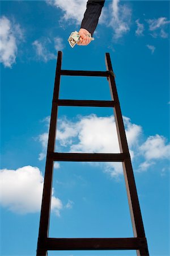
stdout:
<svg viewBox="0 0 170 256">
<path fill-rule="evenodd" d="M 124 162 L 129 158 L 128 154 L 100 154 L 100 153 L 57 153 L 49 152 L 48 157 L 53 161 L 73 161 L 73 162 Z"/>
</svg>

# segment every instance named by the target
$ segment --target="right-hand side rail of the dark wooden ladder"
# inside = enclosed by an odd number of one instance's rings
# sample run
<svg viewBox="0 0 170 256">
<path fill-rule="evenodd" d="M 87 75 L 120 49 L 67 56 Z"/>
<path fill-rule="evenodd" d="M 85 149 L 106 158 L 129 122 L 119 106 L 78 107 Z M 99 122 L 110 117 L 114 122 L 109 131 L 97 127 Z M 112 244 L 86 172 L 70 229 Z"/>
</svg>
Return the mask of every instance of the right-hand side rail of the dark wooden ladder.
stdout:
<svg viewBox="0 0 170 256">
<path fill-rule="evenodd" d="M 113 72 L 111 57 L 110 57 L 109 53 L 106 53 L 106 55 L 105 55 L 105 63 L 106 63 L 108 71 Z M 115 118 L 115 122 L 116 122 L 120 151 L 122 153 L 129 154 L 129 148 L 128 148 L 128 142 L 126 139 L 124 121 L 122 118 L 120 102 L 118 100 L 118 94 L 117 94 L 116 82 L 115 82 L 114 76 L 109 76 L 108 81 L 109 81 L 109 87 L 110 87 L 110 91 L 111 91 L 111 97 L 112 97 L 112 100 L 114 100 L 114 102 L 115 102 L 115 106 L 114 106 L 113 110 L 114 110 L 114 118 Z M 141 209 L 139 206 L 139 200 L 138 200 L 137 188 L 136 188 L 135 180 L 134 180 L 133 168 L 131 166 L 130 154 L 129 154 L 129 159 L 126 159 L 122 163 L 122 166 L 123 166 L 123 170 L 124 170 L 126 191 L 128 194 L 128 202 L 129 202 L 129 208 L 130 208 L 131 222 L 133 225 L 134 237 L 145 237 L 145 230 L 144 230 L 144 226 L 143 226 Z M 139 254 L 138 251 L 137 251 L 137 253 Z"/>
</svg>

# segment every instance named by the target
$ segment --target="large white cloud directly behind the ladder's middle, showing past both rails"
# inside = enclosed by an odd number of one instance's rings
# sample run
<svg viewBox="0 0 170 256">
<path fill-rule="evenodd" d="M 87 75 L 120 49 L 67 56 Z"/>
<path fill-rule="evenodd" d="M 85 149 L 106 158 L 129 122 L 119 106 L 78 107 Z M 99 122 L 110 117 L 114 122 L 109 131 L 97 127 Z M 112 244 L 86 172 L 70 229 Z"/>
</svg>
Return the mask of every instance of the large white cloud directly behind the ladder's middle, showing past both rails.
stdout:
<svg viewBox="0 0 170 256">
<path fill-rule="evenodd" d="M 134 146 L 142 132 L 141 126 L 131 123 L 124 117 L 126 136 L 130 146 L 131 158 L 135 155 Z M 47 143 L 48 134 L 39 136 L 42 148 Z M 117 153 L 120 152 L 114 117 L 97 117 L 95 114 L 78 117 L 72 122 L 66 118 L 58 119 L 57 144 L 62 152 Z M 58 146 L 58 147 L 59 147 Z M 41 153 L 42 154 L 42 153 Z M 112 177 L 122 174 L 122 165 L 118 163 L 100 164 Z"/>
</svg>

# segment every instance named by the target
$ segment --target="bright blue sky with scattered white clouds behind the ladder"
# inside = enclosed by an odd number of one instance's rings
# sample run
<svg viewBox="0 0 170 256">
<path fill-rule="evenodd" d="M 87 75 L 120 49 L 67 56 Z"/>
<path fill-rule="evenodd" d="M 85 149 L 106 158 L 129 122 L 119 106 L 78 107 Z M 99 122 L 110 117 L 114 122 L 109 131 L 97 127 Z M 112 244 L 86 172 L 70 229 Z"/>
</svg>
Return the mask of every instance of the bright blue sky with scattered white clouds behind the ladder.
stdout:
<svg viewBox="0 0 170 256">
<path fill-rule="evenodd" d="M 148 249 L 170 255 L 169 1 L 106 1 L 95 40 L 71 48 L 85 10 L 86 0 L 1 1 L 1 256 L 36 255 L 58 51 L 62 69 L 95 71 L 110 53 Z M 111 100 L 104 77 L 61 77 L 59 98 Z M 56 152 L 120 152 L 113 109 L 59 107 Z M 49 237 L 133 237 L 121 164 L 54 164 Z"/>
</svg>

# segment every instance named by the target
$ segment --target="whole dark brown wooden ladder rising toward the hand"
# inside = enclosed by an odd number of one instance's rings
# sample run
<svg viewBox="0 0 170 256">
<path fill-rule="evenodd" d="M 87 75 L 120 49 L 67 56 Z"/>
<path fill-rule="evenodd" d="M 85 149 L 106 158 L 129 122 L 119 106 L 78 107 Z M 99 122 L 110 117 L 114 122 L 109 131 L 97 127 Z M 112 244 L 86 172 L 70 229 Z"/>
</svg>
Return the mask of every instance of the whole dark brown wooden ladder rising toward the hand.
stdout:
<svg viewBox="0 0 170 256">
<path fill-rule="evenodd" d="M 58 51 L 56 77 L 54 82 L 52 113 L 50 118 L 48 148 L 44 176 L 44 189 L 40 215 L 37 256 L 47 256 L 48 250 L 137 250 L 138 256 L 148 256 L 148 246 L 143 227 L 141 209 L 135 186 L 133 168 L 122 119 L 120 103 L 114 80 L 111 57 L 105 53 L 107 71 L 72 71 L 61 69 L 62 52 Z M 61 76 L 99 76 L 107 77 L 112 101 L 99 100 L 59 100 L 59 84 Z M 93 106 L 109 107 L 114 110 L 114 118 L 120 146 L 119 154 L 88 154 L 54 152 L 56 142 L 56 126 L 58 106 Z M 50 201 L 52 197 L 53 163 L 69 162 L 122 162 L 126 191 L 130 208 L 134 237 L 130 238 L 49 238 Z"/>
</svg>

